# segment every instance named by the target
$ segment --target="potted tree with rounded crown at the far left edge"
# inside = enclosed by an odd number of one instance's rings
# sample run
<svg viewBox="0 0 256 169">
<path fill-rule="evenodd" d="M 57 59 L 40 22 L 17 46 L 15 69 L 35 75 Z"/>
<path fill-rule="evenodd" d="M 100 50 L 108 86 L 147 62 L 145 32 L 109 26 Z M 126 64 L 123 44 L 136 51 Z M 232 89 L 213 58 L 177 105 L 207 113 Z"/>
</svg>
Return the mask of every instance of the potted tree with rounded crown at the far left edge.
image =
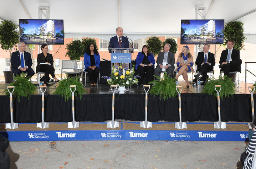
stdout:
<svg viewBox="0 0 256 169">
<path fill-rule="evenodd" d="M 12 23 L 11 21 L 2 21 L 0 24 L 0 44 L 1 48 L 5 51 L 10 52 L 9 60 L 11 62 L 11 51 L 14 47 L 16 47 L 15 51 L 17 51 L 16 44 L 20 41 L 20 35 L 17 31 L 18 25 Z M 11 70 L 11 63 L 10 63 Z M 4 71 L 5 82 L 10 83 L 13 81 L 11 71 Z"/>
</svg>

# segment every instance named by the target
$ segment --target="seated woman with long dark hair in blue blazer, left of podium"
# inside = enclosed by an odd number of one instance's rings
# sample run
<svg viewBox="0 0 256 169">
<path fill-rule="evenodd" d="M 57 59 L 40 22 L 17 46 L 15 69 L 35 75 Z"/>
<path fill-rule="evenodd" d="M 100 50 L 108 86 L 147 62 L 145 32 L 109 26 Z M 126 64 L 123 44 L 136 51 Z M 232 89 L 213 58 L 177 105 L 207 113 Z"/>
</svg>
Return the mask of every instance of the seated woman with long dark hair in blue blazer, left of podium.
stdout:
<svg viewBox="0 0 256 169">
<path fill-rule="evenodd" d="M 89 74 L 91 86 L 96 86 L 101 58 L 99 57 L 99 52 L 94 47 L 94 44 L 90 44 L 87 47 L 83 60 L 85 63 L 85 71 Z"/>
</svg>

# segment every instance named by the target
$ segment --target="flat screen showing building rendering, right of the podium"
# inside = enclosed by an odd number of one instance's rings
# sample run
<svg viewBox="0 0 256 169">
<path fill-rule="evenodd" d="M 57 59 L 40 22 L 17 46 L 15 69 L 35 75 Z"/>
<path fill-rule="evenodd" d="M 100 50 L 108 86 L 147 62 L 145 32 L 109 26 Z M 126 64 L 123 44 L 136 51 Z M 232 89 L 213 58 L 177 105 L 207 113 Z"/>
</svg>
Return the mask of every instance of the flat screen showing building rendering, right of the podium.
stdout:
<svg viewBox="0 0 256 169">
<path fill-rule="evenodd" d="M 181 20 L 180 44 L 223 44 L 224 19 Z"/>
</svg>

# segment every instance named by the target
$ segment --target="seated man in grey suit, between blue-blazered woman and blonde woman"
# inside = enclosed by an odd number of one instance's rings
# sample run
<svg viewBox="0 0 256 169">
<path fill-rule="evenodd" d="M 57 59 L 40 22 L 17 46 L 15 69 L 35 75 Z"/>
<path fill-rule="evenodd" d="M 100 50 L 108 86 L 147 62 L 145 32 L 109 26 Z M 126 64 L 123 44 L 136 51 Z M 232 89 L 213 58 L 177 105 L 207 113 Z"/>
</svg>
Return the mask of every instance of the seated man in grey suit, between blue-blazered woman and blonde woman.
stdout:
<svg viewBox="0 0 256 169">
<path fill-rule="evenodd" d="M 160 77 L 161 72 L 167 72 L 167 75 L 169 75 L 169 78 L 173 75 L 174 70 L 174 53 L 170 52 L 171 45 L 169 43 L 166 43 L 164 45 L 164 51 L 160 52 L 157 57 L 157 66 L 155 67 L 155 76 Z"/>
</svg>

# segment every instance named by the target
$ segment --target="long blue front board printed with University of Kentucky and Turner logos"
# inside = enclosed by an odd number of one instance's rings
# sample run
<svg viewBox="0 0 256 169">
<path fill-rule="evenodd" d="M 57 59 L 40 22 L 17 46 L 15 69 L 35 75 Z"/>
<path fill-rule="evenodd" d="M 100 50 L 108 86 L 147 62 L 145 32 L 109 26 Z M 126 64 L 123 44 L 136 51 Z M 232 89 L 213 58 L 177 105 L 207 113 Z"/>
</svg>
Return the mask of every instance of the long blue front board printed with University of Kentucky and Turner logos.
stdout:
<svg viewBox="0 0 256 169">
<path fill-rule="evenodd" d="M 10 141 L 75 141 L 75 140 L 184 140 L 248 141 L 248 131 L 184 130 L 62 130 L 1 131 Z"/>
</svg>

